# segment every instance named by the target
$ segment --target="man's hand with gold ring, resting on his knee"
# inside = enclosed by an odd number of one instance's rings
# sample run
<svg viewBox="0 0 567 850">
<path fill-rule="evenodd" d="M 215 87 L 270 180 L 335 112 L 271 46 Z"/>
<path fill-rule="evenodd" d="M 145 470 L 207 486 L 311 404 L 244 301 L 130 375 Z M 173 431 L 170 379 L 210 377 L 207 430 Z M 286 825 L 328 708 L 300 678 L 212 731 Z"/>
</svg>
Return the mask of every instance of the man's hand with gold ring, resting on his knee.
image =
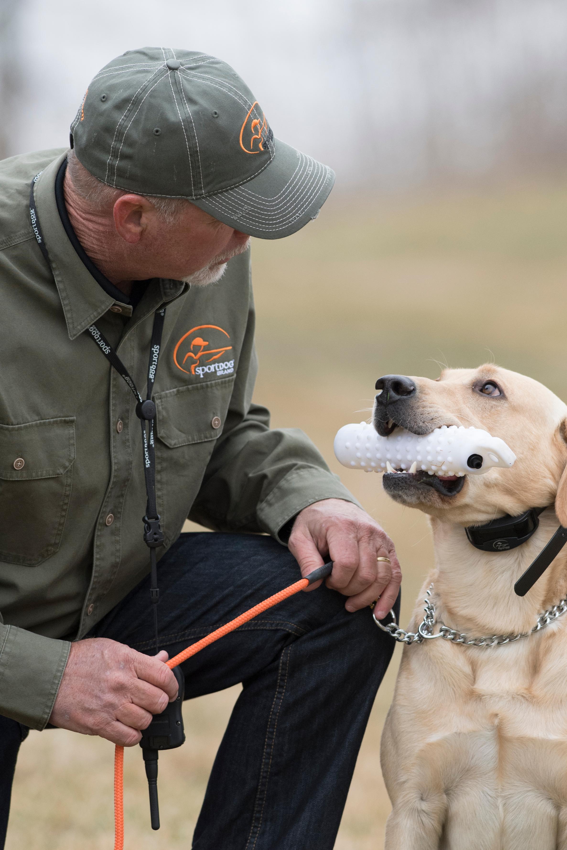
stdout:
<svg viewBox="0 0 567 850">
<path fill-rule="evenodd" d="M 289 536 L 289 548 L 298 560 L 301 575 L 333 562 L 326 586 L 349 599 L 348 611 L 366 608 L 380 598 L 376 616 L 382 620 L 394 605 L 401 582 L 400 563 L 394 543 L 386 532 L 360 507 L 343 499 L 315 501 L 298 513 Z M 377 561 L 389 558 L 390 564 Z M 315 581 L 307 590 L 319 587 Z"/>
</svg>

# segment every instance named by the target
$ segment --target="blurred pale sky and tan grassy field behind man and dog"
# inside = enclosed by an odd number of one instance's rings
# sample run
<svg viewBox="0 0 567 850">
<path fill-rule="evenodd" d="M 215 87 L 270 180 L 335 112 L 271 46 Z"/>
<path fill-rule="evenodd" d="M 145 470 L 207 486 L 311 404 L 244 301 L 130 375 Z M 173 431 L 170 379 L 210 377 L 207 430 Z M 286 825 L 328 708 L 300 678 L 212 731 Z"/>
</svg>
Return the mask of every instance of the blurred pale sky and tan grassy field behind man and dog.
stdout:
<svg viewBox="0 0 567 850">
<path fill-rule="evenodd" d="M 309 433 L 379 519 L 404 570 L 402 624 L 432 564 L 421 514 L 332 439 L 368 416 L 377 377 L 495 360 L 567 399 L 567 5 L 563 0 L 0 0 L 0 156 L 66 144 L 89 79 L 143 43 L 235 66 L 275 135 L 337 171 L 320 217 L 252 248 L 257 399 Z M 222 286 L 222 282 L 218 285 Z M 419 651 L 419 647 L 410 649 Z M 337 850 L 382 843 L 378 694 Z M 188 743 L 160 761 L 152 833 L 139 751 L 126 759 L 127 847 L 187 847 L 237 689 L 185 706 Z M 112 747 L 53 731 L 22 747 L 9 850 L 106 850 Z"/>
</svg>

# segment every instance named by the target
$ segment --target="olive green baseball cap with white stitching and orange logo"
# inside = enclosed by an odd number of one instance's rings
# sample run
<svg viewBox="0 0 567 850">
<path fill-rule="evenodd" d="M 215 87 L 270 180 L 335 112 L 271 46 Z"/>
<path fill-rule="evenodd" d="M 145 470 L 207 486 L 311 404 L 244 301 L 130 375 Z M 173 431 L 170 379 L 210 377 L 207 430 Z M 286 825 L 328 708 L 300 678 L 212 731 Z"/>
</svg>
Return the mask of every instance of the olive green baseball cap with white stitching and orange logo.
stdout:
<svg viewBox="0 0 567 850">
<path fill-rule="evenodd" d="M 112 59 L 88 86 L 71 147 L 109 186 L 186 198 L 260 239 L 316 218 L 335 180 L 275 139 L 230 65 L 194 50 L 140 48 Z"/>
</svg>

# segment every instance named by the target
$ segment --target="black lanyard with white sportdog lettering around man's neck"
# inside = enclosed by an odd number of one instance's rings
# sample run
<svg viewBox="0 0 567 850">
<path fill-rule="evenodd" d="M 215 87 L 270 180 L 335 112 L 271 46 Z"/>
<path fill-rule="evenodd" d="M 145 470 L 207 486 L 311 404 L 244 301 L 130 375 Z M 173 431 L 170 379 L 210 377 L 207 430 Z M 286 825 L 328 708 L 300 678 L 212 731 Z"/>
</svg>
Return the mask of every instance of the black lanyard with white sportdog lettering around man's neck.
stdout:
<svg viewBox="0 0 567 850">
<path fill-rule="evenodd" d="M 41 171 L 39 174 L 41 174 Z M 45 246 L 45 239 L 43 238 L 42 229 L 39 225 L 39 218 L 37 218 L 36 202 L 33 197 L 33 187 L 36 184 L 39 174 L 37 174 L 31 182 L 31 227 L 33 228 L 33 232 L 37 239 L 37 244 L 39 245 L 41 252 L 43 253 L 43 257 L 45 258 L 49 268 L 51 269 L 48 251 Z M 157 603 L 160 598 L 159 588 L 157 587 L 156 548 L 163 546 L 163 532 L 162 527 L 160 525 L 160 515 L 159 513 L 157 513 L 156 505 L 156 448 L 154 443 L 154 422 L 156 420 L 156 405 L 151 400 L 151 393 L 154 388 L 154 381 L 156 380 L 157 361 L 159 360 L 160 348 L 162 346 L 162 331 L 163 322 L 165 320 L 165 314 L 166 309 L 165 307 L 162 307 L 161 309 L 156 310 L 156 314 L 154 315 L 154 326 L 151 331 L 150 361 L 148 363 L 148 391 L 147 398 L 145 400 L 142 399 L 142 396 L 139 394 L 138 388 L 136 388 L 136 384 L 130 377 L 128 369 L 122 363 L 122 360 L 120 359 L 118 354 L 116 354 L 116 351 L 114 350 L 114 348 L 112 348 L 111 343 L 108 342 L 104 334 L 99 331 L 96 325 L 91 325 L 87 328 L 86 331 L 88 335 L 97 344 L 97 346 L 100 348 L 102 353 L 105 355 L 105 358 L 109 361 L 111 367 L 116 369 L 118 374 L 128 384 L 128 387 L 132 390 L 137 402 L 136 416 L 138 416 L 140 425 L 142 426 L 142 445 L 144 448 L 144 479 L 145 492 L 147 496 L 146 513 L 143 519 L 144 541 L 145 544 L 150 547 L 150 598 L 153 604 L 152 608 L 154 611 L 156 652 L 159 651 L 157 639 Z M 146 422 L 150 426 L 149 433 L 148 431 L 146 431 Z"/>
</svg>

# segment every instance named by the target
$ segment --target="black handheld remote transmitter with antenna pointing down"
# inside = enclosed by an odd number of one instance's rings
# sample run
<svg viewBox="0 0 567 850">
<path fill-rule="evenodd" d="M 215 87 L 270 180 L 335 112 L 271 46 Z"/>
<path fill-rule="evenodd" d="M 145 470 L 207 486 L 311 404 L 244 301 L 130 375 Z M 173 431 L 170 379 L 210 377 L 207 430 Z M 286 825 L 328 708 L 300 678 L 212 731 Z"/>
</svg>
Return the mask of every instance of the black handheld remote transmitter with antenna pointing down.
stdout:
<svg viewBox="0 0 567 850">
<path fill-rule="evenodd" d="M 145 775 L 150 789 L 150 818 L 152 830 L 160 828 L 160 810 L 157 802 L 157 759 L 160 750 L 174 750 L 185 740 L 181 708 L 185 689 L 185 677 L 179 667 L 173 667 L 173 676 L 179 684 L 177 699 L 170 702 L 161 714 L 155 714 L 150 726 L 142 729 L 139 745 L 145 762 Z"/>
</svg>

